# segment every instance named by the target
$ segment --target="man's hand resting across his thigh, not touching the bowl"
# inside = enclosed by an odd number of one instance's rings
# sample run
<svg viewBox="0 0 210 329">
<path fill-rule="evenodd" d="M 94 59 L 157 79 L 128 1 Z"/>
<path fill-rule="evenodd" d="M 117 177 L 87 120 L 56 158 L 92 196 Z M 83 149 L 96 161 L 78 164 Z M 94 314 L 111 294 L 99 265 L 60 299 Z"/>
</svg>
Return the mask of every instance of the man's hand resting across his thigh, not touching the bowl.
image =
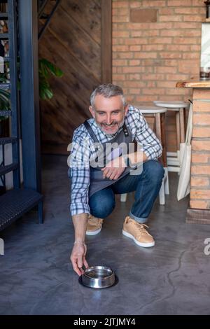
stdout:
<svg viewBox="0 0 210 329">
<path fill-rule="evenodd" d="M 111 160 L 106 167 L 102 168 L 103 178 L 118 179 L 125 170 L 126 164 L 123 157 L 118 157 Z"/>
</svg>

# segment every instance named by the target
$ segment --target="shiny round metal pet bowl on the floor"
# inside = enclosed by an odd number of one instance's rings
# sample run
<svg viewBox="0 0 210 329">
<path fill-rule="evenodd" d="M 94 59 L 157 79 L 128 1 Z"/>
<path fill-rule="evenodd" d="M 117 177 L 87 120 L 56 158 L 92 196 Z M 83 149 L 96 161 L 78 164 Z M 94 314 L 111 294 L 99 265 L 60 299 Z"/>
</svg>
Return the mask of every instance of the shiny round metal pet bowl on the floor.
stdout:
<svg viewBox="0 0 210 329">
<path fill-rule="evenodd" d="M 79 283 L 90 288 L 109 288 L 118 283 L 116 274 L 107 266 L 92 266 L 85 269 Z"/>
</svg>

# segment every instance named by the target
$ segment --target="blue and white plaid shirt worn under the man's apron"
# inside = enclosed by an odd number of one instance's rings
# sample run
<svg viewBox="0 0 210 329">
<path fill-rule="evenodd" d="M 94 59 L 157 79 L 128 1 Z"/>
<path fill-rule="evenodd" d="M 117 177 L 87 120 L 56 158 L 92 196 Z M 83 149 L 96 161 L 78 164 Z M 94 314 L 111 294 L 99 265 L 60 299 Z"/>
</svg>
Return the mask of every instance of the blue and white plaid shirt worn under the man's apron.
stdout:
<svg viewBox="0 0 210 329">
<path fill-rule="evenodd" d="M 111 141 L 123 129 L 121 127 L 116 134 L 107 135 L 97 126 L 93 118 L 88 120 L 94 134 L 101 143 Z M 129 106 L 125 125 L 132 132 L 132 140 L 141 144 L 141 149 L 147 155 L 148 160 L 157 160 L 162 154 L 162 146 L 154 132 L 148 127 L 141 111 L 134 106 Z M 84 125 L 80 125 L 73 133 L 71 146 L 69 177 L 71 178 L 71 216 L 76 214 L 90 214 L 88 205 L 88 189 L 90 186 L 90 160 L 96 158 L 93 140 Z"/>
</svg>

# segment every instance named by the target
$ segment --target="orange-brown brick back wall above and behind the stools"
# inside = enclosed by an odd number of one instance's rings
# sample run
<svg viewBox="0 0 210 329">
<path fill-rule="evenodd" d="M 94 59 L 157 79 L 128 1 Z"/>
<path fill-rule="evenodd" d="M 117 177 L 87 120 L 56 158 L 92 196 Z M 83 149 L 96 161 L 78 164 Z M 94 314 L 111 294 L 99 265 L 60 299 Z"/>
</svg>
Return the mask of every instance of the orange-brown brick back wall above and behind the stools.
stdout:
<svg viewBox="0 0 210 329">
<path fill-rule="evenodd" d="M 203 0 L 113 0 L 113 83 L 127 102 L 188 100 L 177 80 L 200 71 Z M 176 150 L 175 117 L 167 113 L 168 151 Z"/>
</svg>

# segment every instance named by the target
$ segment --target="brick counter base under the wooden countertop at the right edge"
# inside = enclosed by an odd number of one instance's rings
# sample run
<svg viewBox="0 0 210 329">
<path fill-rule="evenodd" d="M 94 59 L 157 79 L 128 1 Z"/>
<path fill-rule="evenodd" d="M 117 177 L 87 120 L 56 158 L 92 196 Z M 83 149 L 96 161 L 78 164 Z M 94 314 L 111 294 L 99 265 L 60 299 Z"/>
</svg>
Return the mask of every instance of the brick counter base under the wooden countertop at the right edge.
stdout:
<svg viewBox="0 0 210 329">
<path fill-rule="evenodd" d="M 193 92 L 190 208 L 210 209 L 210 90 Z"/>
</svg>

